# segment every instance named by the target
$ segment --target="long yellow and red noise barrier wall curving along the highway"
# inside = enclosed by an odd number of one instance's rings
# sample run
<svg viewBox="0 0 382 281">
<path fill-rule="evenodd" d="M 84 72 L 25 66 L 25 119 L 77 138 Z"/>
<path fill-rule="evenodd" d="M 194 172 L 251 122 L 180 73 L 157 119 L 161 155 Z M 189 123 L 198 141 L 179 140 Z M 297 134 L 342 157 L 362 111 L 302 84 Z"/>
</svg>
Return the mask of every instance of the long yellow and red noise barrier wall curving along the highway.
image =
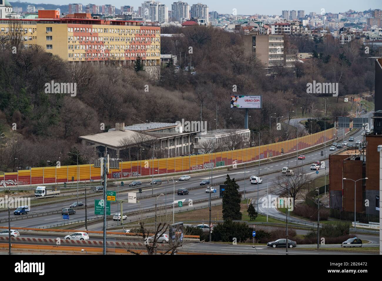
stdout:
<svg viewBox="0 0 382 281">
<path fill-rule="evenodd" d="M 223 151 L 210 154 L 183 156 L 174 158 L 148 159 L 141 161 L 120 162 L 118 169 L 111 169 L 109 179 L 133 179 L 138 176 L 163 175 L 163 173 L 194 172 L 209 170 L 218 167 L 227 167 L 232 164 L 240 164 L 259 159 L 269 159 L 282 154 L 293 153 L 324 141 L 333 140 L 334 128 L 323 132 L 299 137 L 298 139 L 281 141 L 269 145 L 243 148 L 231 151 Z M 79 172 L 78 172 L 79 171 Z M 54 184 L 77 181 L 77 173 L 80 181 L 100 180 L 100 168 L 93 164 L 60 166 L 60 167 L 38 167 L 30 170 L 5 173 L 0 175 L 0 185 L 32 185 L 32 184 Z"/>
</svg>

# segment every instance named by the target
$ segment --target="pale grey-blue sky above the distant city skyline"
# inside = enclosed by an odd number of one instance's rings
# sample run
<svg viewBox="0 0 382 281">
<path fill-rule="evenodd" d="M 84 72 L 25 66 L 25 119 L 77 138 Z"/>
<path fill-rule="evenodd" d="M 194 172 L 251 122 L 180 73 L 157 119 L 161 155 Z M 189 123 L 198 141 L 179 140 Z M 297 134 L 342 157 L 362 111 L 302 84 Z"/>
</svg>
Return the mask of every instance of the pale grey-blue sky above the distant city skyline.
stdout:
<svg viewBox="0 0 382 281">
<path fill-rule="evenodd" d="M 82 3 L 87 5 L 88 3 L 96 5 L 112 4 L 116 8 L 120 8 L 123 5 L 131 5 L 134 10 L 138 9 L 143 3 L 142 0 L 91 0 L 89 2 L 81 2 L 75 0 L 74 2 L 66 0 L 38 0 L 38 1 L 28 1 L 21 0 L 21 2 L 32 2 L 32 3 L 44 3 L 44 4 L 57 4 L 65 5 L 69 3 Z M 254 0 L 194 0 L 194 1 L 183 1 L 187 2 L 188 5 L 196 4 L 200 1 L 202 4 L 206 4 L 209 7 L 209 11 L 217 11 L 219 13 L 232 13 L 233 9 L 237 10 L 238 15 L 253 15 L 253 14 L 264 14 L 264 15 L 281 15 L 282 10 L 304 10 L 305 13 L 317 12 L 320 13 L 321 9 L 325 9 L 325 13 L 339 13 L 347 10 L 364 11 L 369 8 L 378 9 L 382 8 L 381 0 L 273 0 L 273 1 L 254 1 Z M 175 0 L 160 1 L 162 4 L 168 6 L 168 10 L 171 10 L 171 4 L 177 2 Z"/>
</svg>

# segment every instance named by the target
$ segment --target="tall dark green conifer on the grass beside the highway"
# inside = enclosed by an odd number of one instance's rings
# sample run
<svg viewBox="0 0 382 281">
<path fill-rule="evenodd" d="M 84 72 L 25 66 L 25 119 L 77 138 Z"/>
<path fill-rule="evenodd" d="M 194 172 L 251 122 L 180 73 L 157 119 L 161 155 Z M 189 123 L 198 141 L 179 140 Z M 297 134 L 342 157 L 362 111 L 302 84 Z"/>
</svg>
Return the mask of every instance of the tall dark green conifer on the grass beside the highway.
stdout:
<svg viewBox="0 0 382 281">
<path fill-rule="evenodd" d="M 241 220 L 239 185 L 236 184 L 235 179 L 231 180 L 229 175 L 224 184 L 227 187 L 223 192 L 223 220 Z"/>
</svg>

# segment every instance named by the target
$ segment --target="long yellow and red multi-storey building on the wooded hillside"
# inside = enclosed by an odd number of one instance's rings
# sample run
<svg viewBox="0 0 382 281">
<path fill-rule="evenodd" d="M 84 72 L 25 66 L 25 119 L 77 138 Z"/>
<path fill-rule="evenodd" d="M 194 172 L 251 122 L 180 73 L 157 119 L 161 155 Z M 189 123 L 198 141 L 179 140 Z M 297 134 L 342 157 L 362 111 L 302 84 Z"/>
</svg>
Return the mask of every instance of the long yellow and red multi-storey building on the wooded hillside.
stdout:
<svg viewBox="0 0 382 281">
<path fill-rule="evenodd" d="M 36 19 L 0 19 L 0 36 L 8 34 L 13 22 L 23 29 L 25 47 L 40 45 L 66 61 L 126 63 L 139 56 L 149 72 L 150 67 L 160 67 L 159 26 L 92 18 L 86 13 L 60 18 L 56 10 L 40 10 Z"/>
</svg>

